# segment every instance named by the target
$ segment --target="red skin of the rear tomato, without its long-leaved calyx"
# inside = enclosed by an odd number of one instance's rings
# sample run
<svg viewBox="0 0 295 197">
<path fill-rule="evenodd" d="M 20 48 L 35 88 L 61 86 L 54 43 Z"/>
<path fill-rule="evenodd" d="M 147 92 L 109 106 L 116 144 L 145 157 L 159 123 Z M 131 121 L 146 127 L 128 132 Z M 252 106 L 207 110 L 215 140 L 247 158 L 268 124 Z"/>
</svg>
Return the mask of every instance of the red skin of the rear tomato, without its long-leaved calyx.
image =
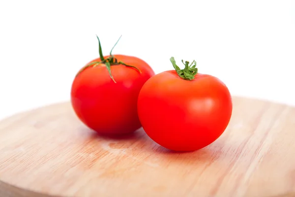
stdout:
<svg viewBox="0 0 295 197">
<path fill-rule="evenodd" d="M 76 115 L 90 129 L 102 134 L 125 134 L 141 128 L 137 114 L 138 94 L 144 83 L 154 75 L 152 68 L 139 58 L 126 55 L 114 57 L 127 65 L 136 66 L 142 73 L 132 67 L 111 66 L 115 83 L 106 66 L 100 64 L 79 73 L 71 87 L 71 103 Z M 100 59 L 91 62 L 97 61 Z"/>
</svg>

